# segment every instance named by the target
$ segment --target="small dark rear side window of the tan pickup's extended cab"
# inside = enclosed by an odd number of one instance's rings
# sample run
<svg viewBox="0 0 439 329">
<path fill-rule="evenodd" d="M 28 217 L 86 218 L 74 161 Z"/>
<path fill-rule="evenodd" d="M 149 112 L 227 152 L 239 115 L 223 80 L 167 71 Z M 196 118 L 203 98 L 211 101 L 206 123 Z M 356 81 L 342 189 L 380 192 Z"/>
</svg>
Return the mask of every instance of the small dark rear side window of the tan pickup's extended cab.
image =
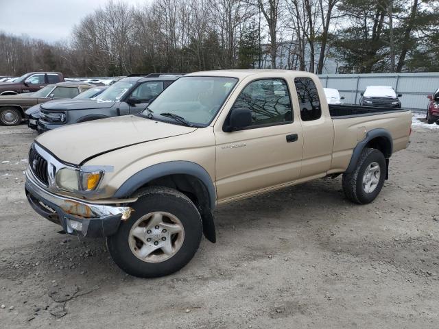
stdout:
<svg viewBox="0 0 439 329">
<path fill-rule="evenodd" d="M 294 84 L 296 85 L 302 121 L 319 119 L 322 116 L 322 109 L 316 84 L 310 77 L 296 77 Z"/>
</svg>

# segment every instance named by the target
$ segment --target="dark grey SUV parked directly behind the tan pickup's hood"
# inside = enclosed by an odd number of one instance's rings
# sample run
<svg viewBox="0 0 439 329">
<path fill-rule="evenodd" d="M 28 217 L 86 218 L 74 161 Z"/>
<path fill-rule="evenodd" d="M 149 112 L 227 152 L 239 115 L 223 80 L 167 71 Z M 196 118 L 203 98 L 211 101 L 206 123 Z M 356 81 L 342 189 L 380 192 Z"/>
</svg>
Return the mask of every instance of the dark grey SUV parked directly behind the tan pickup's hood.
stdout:
<svg viewBox="0 0 439 329">
<path fill-rule="evenodd" d="M 66 100 L 41 106 L 38 132 L 65 125 L 136 114 L 181 75 L 131 75 L 112 84 L 93 100 Z"/>
</svg>

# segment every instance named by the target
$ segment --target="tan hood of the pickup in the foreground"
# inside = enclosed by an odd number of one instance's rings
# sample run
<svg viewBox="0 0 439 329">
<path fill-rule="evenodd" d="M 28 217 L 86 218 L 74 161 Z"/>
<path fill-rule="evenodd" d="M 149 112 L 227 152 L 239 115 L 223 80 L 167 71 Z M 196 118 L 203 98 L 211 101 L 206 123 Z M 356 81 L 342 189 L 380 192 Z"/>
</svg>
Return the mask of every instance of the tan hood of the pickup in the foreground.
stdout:
<svg viewBox="0 0 439 329">
<path fill-rule="evenodd" d="M 126 115 L 76 123 L 35 138 L 57 158 L 72 164 L 130 145 L 189 134 L 196 128 Z M 103 165 L 110 165 L 104 163 Z"/>
</svg>

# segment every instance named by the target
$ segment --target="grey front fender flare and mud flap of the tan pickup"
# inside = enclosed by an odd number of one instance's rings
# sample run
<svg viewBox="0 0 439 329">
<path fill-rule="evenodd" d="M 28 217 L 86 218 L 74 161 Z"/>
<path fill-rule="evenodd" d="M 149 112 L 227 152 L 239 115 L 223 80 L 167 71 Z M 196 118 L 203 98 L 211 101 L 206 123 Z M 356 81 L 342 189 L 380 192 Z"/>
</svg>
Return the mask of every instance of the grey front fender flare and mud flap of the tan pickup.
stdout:
<svg viewBox="0 0 439 329">
<path fill-rule="evenodd" d="M 154 164 L 134 173 L 116 191 L 113 197 L 141 195 L 148 186 L 167 186 L 187 195 L 200 211 L 204 236 L 215 243 L 216 232 L 212 210 L 216 204 L 216 189 L 206 169 L 190 161 L 170 161 Z"/>
</svg>

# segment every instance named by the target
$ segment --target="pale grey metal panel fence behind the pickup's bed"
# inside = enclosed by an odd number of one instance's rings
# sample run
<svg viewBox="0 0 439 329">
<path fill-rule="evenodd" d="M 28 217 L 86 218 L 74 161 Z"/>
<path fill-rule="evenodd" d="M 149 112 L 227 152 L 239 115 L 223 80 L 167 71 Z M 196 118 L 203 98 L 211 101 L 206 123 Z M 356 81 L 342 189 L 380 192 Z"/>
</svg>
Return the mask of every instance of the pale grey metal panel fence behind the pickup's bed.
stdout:
<svg viewBox="0 0 439 329">
<path fill-rule="evenodd" d="M 324 87 L 335 88 L 344 96 L 344 103 L 357 104 L 367 86 L 392 86 L 403 108 L 427 110 L 427 95 L 439 88 L 439 73 L 371 73 L 371 74 L 322 74 Z"/>
</svg>

